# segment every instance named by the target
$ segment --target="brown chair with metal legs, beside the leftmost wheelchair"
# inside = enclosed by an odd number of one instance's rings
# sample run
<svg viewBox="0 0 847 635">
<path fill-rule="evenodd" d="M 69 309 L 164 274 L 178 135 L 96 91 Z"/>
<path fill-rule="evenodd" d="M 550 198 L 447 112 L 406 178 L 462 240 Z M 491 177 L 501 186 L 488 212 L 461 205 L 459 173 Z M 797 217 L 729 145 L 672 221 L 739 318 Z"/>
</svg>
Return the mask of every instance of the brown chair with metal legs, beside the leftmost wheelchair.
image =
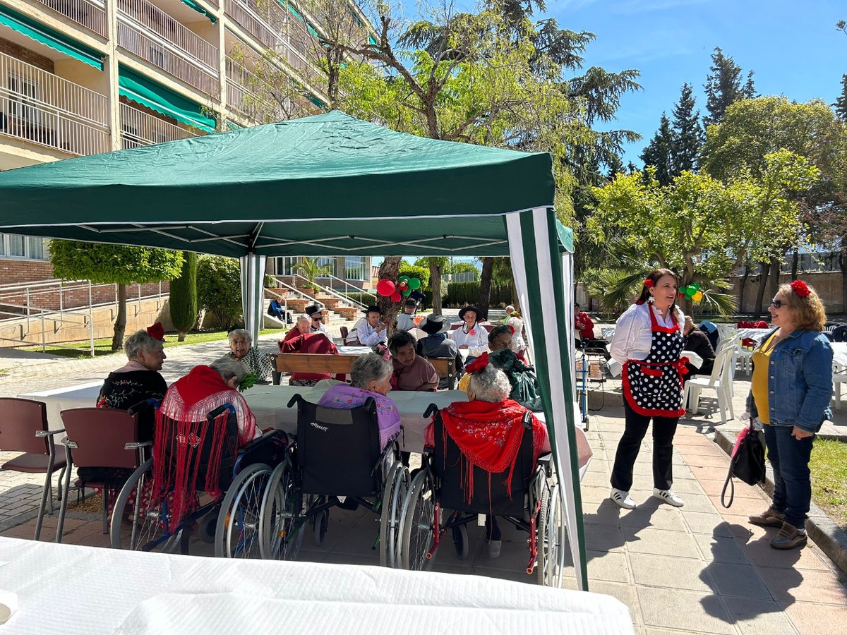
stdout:
<svg viewBox="0 0 847 635">
<path fill-rule="evenodd" d="M 146 460 L 145 448 L 151 441 L 138 441 L 138 414 L 108 408 L 72 408 L 62 411 L 67 437 L 62 439 L 68 471 L 64 475 L 64 495 L 59 509 L 56 542 L 62 542 L 64 513 L 70 492 L 70 472 L 74 467 L 113 467 L 134 470 Z M 73 451 L 71 451 L 73 450 Z M 108 533 L 108 491 L 112 483 L 75 480 L 74 487 L 102 491 L 103 533 Z"/>
</svg>

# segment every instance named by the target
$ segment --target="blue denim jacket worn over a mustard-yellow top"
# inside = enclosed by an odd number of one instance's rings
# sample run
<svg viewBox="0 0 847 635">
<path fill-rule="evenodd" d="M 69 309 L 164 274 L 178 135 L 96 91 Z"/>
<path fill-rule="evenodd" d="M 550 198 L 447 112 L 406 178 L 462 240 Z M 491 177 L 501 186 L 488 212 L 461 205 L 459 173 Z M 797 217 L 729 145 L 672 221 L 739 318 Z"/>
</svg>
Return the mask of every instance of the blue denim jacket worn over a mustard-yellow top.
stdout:
<svg viewBox="0 0 847 635">
<path fill-rule="evenodd" d="M 776 330 L 776 329 L 773 329 Z M 761 339 L 761 347 L 773 331 Z M 818 331 L 794 331 L 773 347 L 767 373 L 771 425 L 817 432 L 832 417 L 833 349 Z M 751 417 L 759 416 L 753 392 L 747 395 Z"/>
</svg>

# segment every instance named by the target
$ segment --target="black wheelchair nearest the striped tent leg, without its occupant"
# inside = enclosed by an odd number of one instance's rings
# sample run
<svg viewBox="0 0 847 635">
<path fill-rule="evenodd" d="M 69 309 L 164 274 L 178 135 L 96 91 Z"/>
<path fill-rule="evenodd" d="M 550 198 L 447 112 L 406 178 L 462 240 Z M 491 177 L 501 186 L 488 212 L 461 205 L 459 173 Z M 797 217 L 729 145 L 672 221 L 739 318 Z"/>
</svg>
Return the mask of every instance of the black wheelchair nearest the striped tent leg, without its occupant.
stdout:
<svg viewBox="0 0 847 635">
<path fill-rule="evenodd" d="M 397 559 L 404 569 L 429 569 L 446 533 L 451 532 L 460 560 L 470 553 L 468 523 L 480 514 L 500 517 L 529 533 L 526 572 L 537 573 L 540 584 L 561 586 L 564 568 L 565 527 L 559 505 L 558 484 L 551 455 L 540 456 L 533 466 L 533 431 L 529 412 L 523 417 L 523 437 L 512 472 L 491 474 L 473 466 L 473 492 L 468 482 L 467 459 L 444 433 L 438 406 L 424 417 L 433 417 L 435 448 L 424 451 L 421 471 L 412 479 L 400 520 Z M 508 486 L 511 485 L 511 496 Z M 451 510 L 443 522 L 443 510 Z"/>
</svg>

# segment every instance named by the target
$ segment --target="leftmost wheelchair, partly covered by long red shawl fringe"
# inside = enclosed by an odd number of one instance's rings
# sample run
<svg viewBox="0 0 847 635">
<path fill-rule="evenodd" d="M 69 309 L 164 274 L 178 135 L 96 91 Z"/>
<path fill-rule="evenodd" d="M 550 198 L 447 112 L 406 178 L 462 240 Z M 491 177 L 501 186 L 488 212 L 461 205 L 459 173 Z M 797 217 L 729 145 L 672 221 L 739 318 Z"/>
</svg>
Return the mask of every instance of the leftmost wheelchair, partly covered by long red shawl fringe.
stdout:
<svg viewBox="0 0 847 635">
<path fill-rule="evenodd" d="M 215 449 L 213 435 L 207 432 L 219 417 L 225 417 L 223 447 Z M 109 532 L 113 548 L 164 553 L 179 549 L 187 554 L 191 532 L 199 524 L 201 538 L 214 543 L 216 556 L 259 557 L 261 505 L 274 468 L 285 462 L 285 433 L 266 433 L 236 450 L 238 422 L 235 408 L 229 404 L 209 412 L 204 422 L 176 425 L 174 439 L 159 455 L 164 457 L 164 472 L 170 476 L 163 479 L 158 491 L 154 487 L 152 458 L 138 467 L 121 489 Z M 210 471 L 218 474 L 221 494 L 200 505 L 194 493 L 214 489 L 208 487 Z M 174 503 L 176 478 L 194 483 L 191 496 L 186 497 L 190 500 L 181 505 L 181 513 L 174 512 L 175 507 L 180 507 Z M 129 529 L 125 519 L 130 520 Z"/>
</svg>

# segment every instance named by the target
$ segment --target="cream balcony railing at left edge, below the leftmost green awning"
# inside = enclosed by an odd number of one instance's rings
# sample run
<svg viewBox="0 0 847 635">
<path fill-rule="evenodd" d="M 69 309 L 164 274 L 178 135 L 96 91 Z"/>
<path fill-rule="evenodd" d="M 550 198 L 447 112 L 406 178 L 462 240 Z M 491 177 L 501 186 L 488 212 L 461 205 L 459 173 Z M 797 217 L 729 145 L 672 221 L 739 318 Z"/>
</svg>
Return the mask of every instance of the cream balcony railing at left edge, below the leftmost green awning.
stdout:
<svg viewBox="0 0 847 635">
<path fill-rule="evenodd" d="M 0 135 L 70 154 L 108 152 L 108 98 L 0 53 Z"/>
</svg>

